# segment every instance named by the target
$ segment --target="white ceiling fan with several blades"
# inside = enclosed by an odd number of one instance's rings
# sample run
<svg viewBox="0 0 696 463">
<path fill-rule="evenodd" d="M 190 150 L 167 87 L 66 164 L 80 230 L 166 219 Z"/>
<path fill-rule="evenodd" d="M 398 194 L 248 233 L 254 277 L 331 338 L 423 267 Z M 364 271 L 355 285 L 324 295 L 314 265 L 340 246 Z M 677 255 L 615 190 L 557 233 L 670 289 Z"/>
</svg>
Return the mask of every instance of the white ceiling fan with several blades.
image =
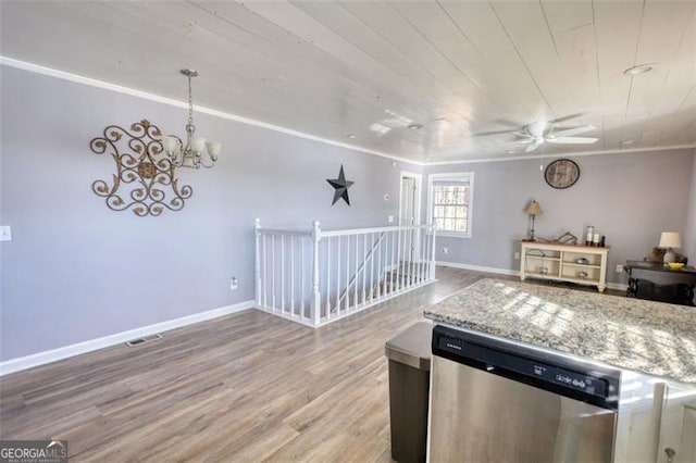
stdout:
<svg viewBox="0 0 696 463">
<path fill-rule="evenodd" d="M 526 146 L 524 152 L 532 152 L 544 143 L 556 145 L 589 145 L 598 140 L 592 137 L 576 137 L 576 135 L 592 132 L 596 127 L 591 124 L 579 125 L 575 127 L 562 127 L 559 124 L 563 121 L 577 117 L 582 114 L 571 114 L 568 116 L 555 118 L 552 121 L 539 121 L 523 125 L 520 128 L 510 130 L 483 132 L 474 134 L 474 137 L 484 135 L 512 134 L 519 137 L 508 143 L 508 147 Z"/>
</svg>

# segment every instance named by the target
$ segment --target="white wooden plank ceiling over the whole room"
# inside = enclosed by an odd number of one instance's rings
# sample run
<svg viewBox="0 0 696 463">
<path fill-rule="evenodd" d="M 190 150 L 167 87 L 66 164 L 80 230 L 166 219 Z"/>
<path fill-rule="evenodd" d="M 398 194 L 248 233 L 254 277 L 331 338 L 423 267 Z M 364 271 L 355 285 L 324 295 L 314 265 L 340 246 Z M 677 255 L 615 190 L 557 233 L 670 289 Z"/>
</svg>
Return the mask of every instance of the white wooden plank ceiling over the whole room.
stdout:
<svg viewBox="0 0 696 463">
<path fill-rule="evenodd" d="M 418 162 L 696 145 L 694 1 L 9 1 L 1 54 Z M 626 76 L 636 64 L 649 73 Z M 580 114 L 594 145 L 511 147 Z M 422 125 L 421 128 L 409 126 Z M 355 138 L 347 138 L 349 134 Z M 214 134 L 210 134 L 215 138 Z"/>
</svg>

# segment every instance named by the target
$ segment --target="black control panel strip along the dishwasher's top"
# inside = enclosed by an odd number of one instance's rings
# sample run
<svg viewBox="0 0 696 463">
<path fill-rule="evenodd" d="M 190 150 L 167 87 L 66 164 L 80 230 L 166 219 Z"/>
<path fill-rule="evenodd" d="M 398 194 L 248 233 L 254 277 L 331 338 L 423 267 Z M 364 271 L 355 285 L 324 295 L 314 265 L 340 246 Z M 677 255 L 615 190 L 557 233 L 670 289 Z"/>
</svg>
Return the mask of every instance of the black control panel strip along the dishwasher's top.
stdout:
<svg viewBox="0 0 696 463">
<path fill-rule="evenodd" d="M 619 371 L 588 367 L 560 354 L 444 326 L 434 328 L 433 354 L 600 406 L 618 405 Z"/>
</svg>

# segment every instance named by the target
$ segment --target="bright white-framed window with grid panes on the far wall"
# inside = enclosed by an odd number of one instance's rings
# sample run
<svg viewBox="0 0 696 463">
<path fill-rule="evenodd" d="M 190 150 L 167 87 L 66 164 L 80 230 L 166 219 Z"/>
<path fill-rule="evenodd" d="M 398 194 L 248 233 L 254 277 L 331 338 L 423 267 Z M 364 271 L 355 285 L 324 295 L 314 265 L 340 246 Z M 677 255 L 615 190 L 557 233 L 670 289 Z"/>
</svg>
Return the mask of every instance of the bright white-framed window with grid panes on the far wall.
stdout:
<svg viewBox="0 0 696 463">
<path fill-rule="evenodd" d="M 428 176 L 427 222 L 438 234 L 471 238 L 474 173 Z"/>
</svg>

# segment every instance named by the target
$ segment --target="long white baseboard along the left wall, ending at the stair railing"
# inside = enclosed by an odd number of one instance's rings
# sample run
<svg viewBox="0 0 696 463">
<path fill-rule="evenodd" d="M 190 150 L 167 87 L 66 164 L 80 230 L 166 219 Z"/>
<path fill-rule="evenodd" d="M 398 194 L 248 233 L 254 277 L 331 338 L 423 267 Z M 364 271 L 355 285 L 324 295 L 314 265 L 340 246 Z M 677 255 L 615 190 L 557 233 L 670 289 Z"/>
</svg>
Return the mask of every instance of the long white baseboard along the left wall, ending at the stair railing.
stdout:
<svg viewBox="0 0 696 463">
<path fill-rule="evenodd" d="M 206 322 L 208 320 L 229 315 L 243 310 L 252 309 L 254 305 L 256 302 L 252 300 L 239 302 L 234 305 L 226 305 L 206 312 L 195 313 L 192 315 L 182 316 L 181 318 L 169 320 L 166 322 L 156 323 L 153 325 L 144 326 L 141 328 L 116 333 L 114 335 L 104 336 L 102 338 L 90 339 L 88 341 L 77 342 L 53 350 L 47 350 L 44 352 L 34 353 L 32 355 L 5 360 L 4 362 L 0 362 L 0 376 L 33 368 L 39 365 L 45 365 L 47 363 L 103 349 L 122 342 L 127 342 L 132 339 L 154 335 L 156 333 L 167 331 L 170 329 L 181 328 L 187 325 L 192 325 L 195 323 Z"/>
</svg>

